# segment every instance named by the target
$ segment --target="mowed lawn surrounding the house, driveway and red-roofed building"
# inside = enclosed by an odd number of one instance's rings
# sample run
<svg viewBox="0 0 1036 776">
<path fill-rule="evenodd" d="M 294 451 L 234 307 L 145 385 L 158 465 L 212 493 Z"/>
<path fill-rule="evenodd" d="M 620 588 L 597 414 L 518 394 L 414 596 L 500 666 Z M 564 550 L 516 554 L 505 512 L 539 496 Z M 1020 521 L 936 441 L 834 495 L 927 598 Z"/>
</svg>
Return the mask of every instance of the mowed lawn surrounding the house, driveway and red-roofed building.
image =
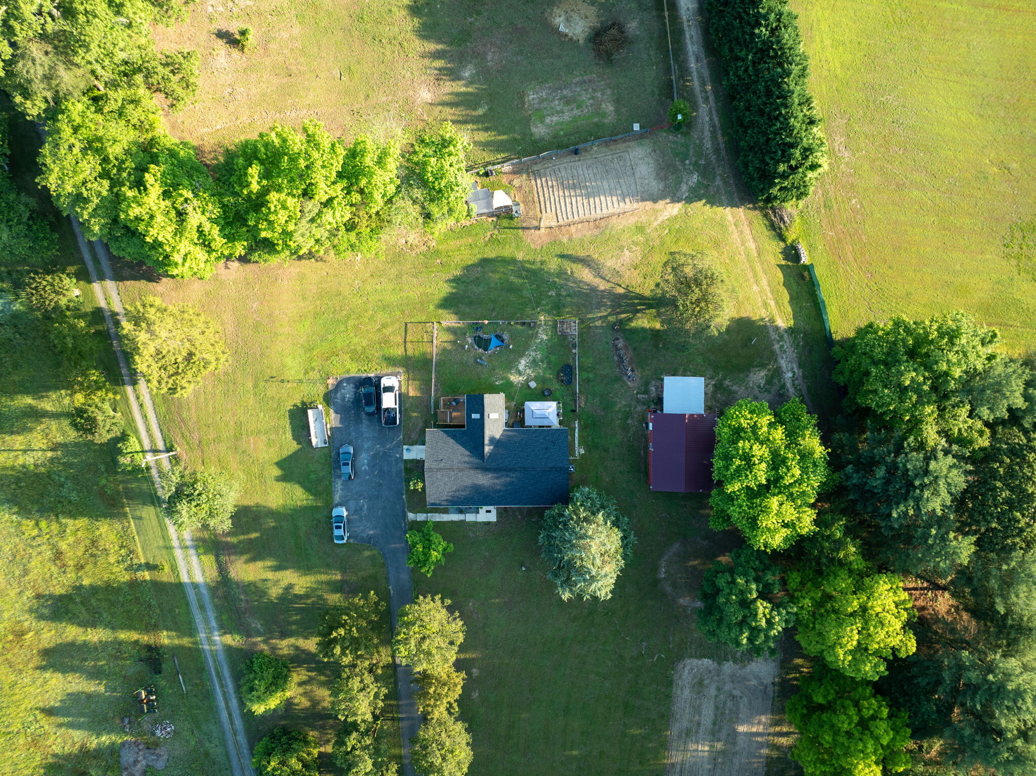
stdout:
<svg viewBox="0 0 1036 776">
<path fill-rule="evenodd" d="M 788 289 L 784 314 L 807 332 L 804 352 L 823 351 L 810 286 L 799 271 L 782 272 L 780 245 L 765 222 L 752 226 L 774 258 L 771 284 Z M 232 659 L 262 648 L 313 666 L 278 721 L 317 730 L 325 746 L 336 723 L 313 630 L 335 594 L 370 588 L 375 572 L 368 566 L 371 576 L 363 576 L 363 558 L 349 554 L 359 548 L 330 543 L 330 458 L 310 448 L 303 404 L 324 395 L 328 376 L 404 369 L 406 440 L 419 441 L 431 372 L 422 322 L 580 318 L 584 452 L 575 482 L 616 497 L 639 536 L 615 597 L 600 605 L 559 601 L 538 559 L 540 515 L 531 510 L 505 511 L 496 525 L 445 526 L 457 549 L 416 588 L 451 598 L 467 623 L 461 713 L 474 738 L 472 775 L 559 773 L 575 764 L 662 773 L 673 665 L 688 656 L 731 657 L 701 642 L 688 604 L 697 575 L 733 538 L 708 530 L 702 496 L 648 490 L 644 411 L 657 403 L 663 374 L 706 376 L 710 409 L 743 396 L 778 400 L 782 383 L 722 209 L 697 202 L 648 211 L 539 247 L 526 234 L 482 223 L 420 253 L 235 263 L 209 281 L 151 283 L 123 267 L 120 286 L 126 301 L 156 294 L 195 305 L 225 333 L 229 366 L 190 397 L 162 398 L 160 411 L 189 463 L 227 470 L 241 484 L 234 528 L 211 543 L 220 605 L 239 648 Z M 727 310 L 713 334 L 663 329 L 652 312 L 662 262 L 675 251 L 704 253 L 725 278 Z M 646 312 L 630 317 L 631 310 Z M 615 336 L 629 343 L 636 384 L 615 366 Z M 461 390 L 467 370 L 480 387 L 485 369 L 460 360 L 442 377 Z"/>
</svg>

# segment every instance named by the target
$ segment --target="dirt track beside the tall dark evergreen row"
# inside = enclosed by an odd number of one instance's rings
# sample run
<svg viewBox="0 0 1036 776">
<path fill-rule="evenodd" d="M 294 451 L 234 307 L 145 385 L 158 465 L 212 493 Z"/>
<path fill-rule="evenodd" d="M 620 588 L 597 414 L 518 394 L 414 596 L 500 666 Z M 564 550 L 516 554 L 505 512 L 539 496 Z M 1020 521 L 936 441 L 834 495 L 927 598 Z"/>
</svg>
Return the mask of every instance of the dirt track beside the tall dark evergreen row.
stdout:
<svg viewBox="0 0 1036 776">
<path fill-rule="evenodd" d="M 716 189 L 725 205 L 730 232 L 737 238 L 741 256 L 752 279 L 752 293 L 759 303 L 759 310 L 769 318 L 767 332 L 777 355 L 777 365 L 784 379 L 784 387 L 787 389 L 788 396 L 801 396 L 808 404 L 806 381 L 802 378 L 802 370 L 795 348 L 792 346 L 787 324 L 774 300 L 759 257 L 759 247 L 755 242 L 751 225 L 745 214 L 745 207 L 751 204 L 752 200 L 740 191 L 738 179 L 733 175 L 730 155 L 723 143 L 719 113 L 716 110 L 716 88 L 709 71 L 708 57 L 702 45 L 701 0 L 677 0 L 677 7 L 684 23 L 684 44 L 687 49 L 687 62 L 691 68 L 694 108 L 697 113 L 695 126 L 704 142 L 706 155 L 716 171 L 718 178 Z"/>
</svg>

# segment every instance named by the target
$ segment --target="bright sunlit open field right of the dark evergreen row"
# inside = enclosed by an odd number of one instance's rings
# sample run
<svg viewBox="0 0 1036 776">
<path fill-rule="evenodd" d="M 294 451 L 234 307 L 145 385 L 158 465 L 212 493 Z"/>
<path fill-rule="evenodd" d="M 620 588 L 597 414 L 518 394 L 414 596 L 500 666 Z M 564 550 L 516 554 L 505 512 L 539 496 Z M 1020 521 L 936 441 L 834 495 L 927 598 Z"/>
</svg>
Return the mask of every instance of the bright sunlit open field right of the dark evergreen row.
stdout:
<svg viewBox="0 0 1036 776">
<path fill-rule="evenodd" d="M 1027 0 L 793 0 L 831 169 L 804 214 L 835 336 L 961 309 L 1036 347 L 1036 7 Z"/>
</svg>

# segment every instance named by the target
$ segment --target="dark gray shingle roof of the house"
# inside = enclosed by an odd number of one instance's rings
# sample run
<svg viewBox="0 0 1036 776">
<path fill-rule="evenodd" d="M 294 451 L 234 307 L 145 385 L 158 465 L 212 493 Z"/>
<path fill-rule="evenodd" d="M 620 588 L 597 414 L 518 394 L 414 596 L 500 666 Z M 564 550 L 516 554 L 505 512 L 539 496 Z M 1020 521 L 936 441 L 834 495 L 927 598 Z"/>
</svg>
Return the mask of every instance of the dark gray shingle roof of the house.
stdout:
<svg viewBox="0 0 1036 776">
<path fill-rule="evenodd" d="M 429 507 L 552 507 L 569 500 L 569 430 L 503 427 L 503 394 L 469 394 L 466 426 L 428 429 Z"/>
</svg>

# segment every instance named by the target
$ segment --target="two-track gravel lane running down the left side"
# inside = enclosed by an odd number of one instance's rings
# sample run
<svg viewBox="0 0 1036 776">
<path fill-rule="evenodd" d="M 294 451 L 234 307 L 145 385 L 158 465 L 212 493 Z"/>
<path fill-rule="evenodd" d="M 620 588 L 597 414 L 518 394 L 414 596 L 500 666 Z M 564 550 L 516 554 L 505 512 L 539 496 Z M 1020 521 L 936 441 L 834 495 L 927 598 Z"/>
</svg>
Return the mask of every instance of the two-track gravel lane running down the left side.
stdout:
<svg viewBox="0 0 1036 776">
<path fill-rule="evenodd" d="M 79 243 L 79 251 L 83 256 L 83 262 L 90 274 L 90 283 L 93 287 L 93 293 L 97 297 L 97 305 L 100 307 L 100 312 L 104 314 L 108 335 L 111 337 L 112 345 L 115 348 L 115 355 L 118 360 L 126 400 L 130 402 L 130 411 L 133 414 L 134 424 L 137 426 L 137 433 L 140 436 L 141 443 L 145 450 L 151 450 L 159 454 L 167 453 L 166 442 L 163 439 L 162 430 L 159 428 L 159 420 L 154 412 L 154 405 L 151 402 L 151 394 L 148 391 L 147 383 L 143 377 L 135 376 L 130 370 L 125 352 L 122 349 L 122 341 L 115 325 L 115 318 L 118 318 L 119 321 L 124 320 L 125 311 L 122 308 L 122 299 L 119 297 L 118 287 L 115 285 L 115 279 L 112 276 L 108 247 L 100 240 L 94 240 L 92 243 L 93 252 L 96 253 L 100 264 L 100 272 L 98 272 L 97 266 L 93 261 L 93 256 L 91 255 L 91 246 L 84 239 L 79 221 L 75 215 L 71 217 L 71 226 L 73 231 L 76 233 L 76 241 Z M 146 422 L 144 413 L 141 411 L 141 404 L 144 405 L 147 412 Z M 156 488 L 159 487 L 160 465 L 164 469 L 168 469 L 170 466 L 169 459 L 162 458 L 157 462 L 154 460 L 149 462 L 151 478 L 154 480 Z M 173 553 L 176 557 L 176 568 L 179 571 L 180 581 L 183 583 L 183 590 L 186 593 L 191 616 L 194 620 L 195 630 L 198 632 L 198 641 L 202 655 L 205 658 L 205 669 L 208 673 L 209 685 L 212 688 L 212 694 L 215 698 L 215 709 L 220 717 L 220 725 L 223 727 L 231 775 L 254 776 L 255 771 L 252 770 L 251 749 L 249 748 L 248 736 L 244 732 L 244 722 L 241 719 L 241 710 L 237 701 L 233 676 L 230 672 L 227 656 L 223 650 L 223 638 L 215 622 L 212 598 L 209 595 L 208 583 L 205 581 L 201 563 L 198 559 L 194 539 L 191 536 L 191 531 L 180 534 L 168 520 L 166 521 L 166 527 L 169 529 Z"/>
</svg>

